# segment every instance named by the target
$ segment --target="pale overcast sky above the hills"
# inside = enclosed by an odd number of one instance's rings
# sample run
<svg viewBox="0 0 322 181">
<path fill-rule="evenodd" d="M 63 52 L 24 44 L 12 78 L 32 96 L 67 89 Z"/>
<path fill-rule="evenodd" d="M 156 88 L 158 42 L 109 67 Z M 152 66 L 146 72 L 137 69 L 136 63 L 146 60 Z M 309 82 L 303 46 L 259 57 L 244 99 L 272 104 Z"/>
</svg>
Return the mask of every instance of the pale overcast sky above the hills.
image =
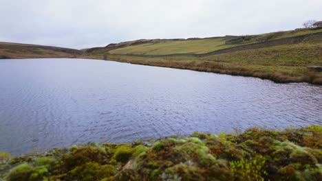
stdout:
<svg viewBox="0 0 322 181">
<path fill-rule="evenodd" d="M 83 49 L 261 34 L 322 21 L 321 0 L 0 0 L 0 41 Z"/>
</svg>

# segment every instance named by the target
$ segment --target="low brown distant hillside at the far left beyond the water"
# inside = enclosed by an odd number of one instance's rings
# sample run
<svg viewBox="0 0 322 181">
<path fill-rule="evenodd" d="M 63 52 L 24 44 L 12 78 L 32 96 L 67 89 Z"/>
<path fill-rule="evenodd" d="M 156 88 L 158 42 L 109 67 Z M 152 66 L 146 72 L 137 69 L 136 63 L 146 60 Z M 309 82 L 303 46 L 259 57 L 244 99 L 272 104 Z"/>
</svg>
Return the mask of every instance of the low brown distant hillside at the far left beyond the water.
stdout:
<svg viewBox="0 0 322 181">
<path fill-rule="evenodd" d="M 0 42 L 1 58 L 72 58 L 83 51 L 61 47 Z"/>
</svg>

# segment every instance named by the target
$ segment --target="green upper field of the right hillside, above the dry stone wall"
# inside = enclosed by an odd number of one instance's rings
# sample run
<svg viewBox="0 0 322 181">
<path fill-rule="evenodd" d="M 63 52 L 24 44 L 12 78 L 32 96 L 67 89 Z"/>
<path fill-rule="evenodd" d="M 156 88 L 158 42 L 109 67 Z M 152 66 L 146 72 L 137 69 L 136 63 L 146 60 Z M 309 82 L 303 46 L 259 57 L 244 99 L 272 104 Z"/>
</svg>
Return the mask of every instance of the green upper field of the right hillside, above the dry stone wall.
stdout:
<svg viewBox="0 0 322 181">
<path fill-rule="evenodd" d="M 103 53 L 109 49 L 111 54 L 128 55 L 169 55 L 173 53 L 208 53 L 219 49 L 238 47 L 253 43 L 264 43 L 271 40 L 279 40 L 294 36 L 322 33 L 322 29 L 299 29 L 287 32 L 275 32 L 269 34 L 248 36 L 223 36 L 213 38 L 189 38 L 189 39 L 155 39 L 136 40 L 126 43 L 111 44 L 96 53 Z M 113 45 L 113 49 L 110 49 Z"/>
</svg>

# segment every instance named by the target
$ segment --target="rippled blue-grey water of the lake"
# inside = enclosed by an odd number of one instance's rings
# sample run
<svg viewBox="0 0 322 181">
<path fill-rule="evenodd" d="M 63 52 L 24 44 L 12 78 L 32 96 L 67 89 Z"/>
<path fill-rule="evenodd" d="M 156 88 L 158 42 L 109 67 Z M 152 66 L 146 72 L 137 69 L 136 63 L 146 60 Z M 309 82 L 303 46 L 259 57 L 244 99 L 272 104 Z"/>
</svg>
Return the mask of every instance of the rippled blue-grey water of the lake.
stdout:
<svg viewBox="0 0 322 181">
<path fill-rule="evenodd" d="M 322 86 L 82 59 L 0 60 L 0 152 L 322 125 Z"/>
</svg>

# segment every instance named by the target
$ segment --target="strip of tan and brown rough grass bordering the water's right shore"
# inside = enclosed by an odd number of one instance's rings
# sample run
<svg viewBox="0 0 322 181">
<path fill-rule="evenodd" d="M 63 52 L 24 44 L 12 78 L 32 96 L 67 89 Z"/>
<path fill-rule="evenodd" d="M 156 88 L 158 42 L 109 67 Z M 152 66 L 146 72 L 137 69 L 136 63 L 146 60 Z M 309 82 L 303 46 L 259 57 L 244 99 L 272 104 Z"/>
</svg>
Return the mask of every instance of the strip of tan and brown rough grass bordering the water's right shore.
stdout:
<svg viewBox="0 0 322 181">
<path fill-rule="evenodd" d="M 322 85 L 322 73 L 307 69 L 305 66 L 275 66 L 261 64 L 235 64 L 213 60 L 193 60 L 191 57 L 176 58 L 138 58 L 131 56 L 83 56 L 81 58 L 114 60 L 131 64 L 143 64 L 157 67 L 170 67 L 175 69 L 189 69 L 228 75 L 241 75 L 246 77 L 259 77 L 274 82 L 308 82 Z"/>
</svg>

